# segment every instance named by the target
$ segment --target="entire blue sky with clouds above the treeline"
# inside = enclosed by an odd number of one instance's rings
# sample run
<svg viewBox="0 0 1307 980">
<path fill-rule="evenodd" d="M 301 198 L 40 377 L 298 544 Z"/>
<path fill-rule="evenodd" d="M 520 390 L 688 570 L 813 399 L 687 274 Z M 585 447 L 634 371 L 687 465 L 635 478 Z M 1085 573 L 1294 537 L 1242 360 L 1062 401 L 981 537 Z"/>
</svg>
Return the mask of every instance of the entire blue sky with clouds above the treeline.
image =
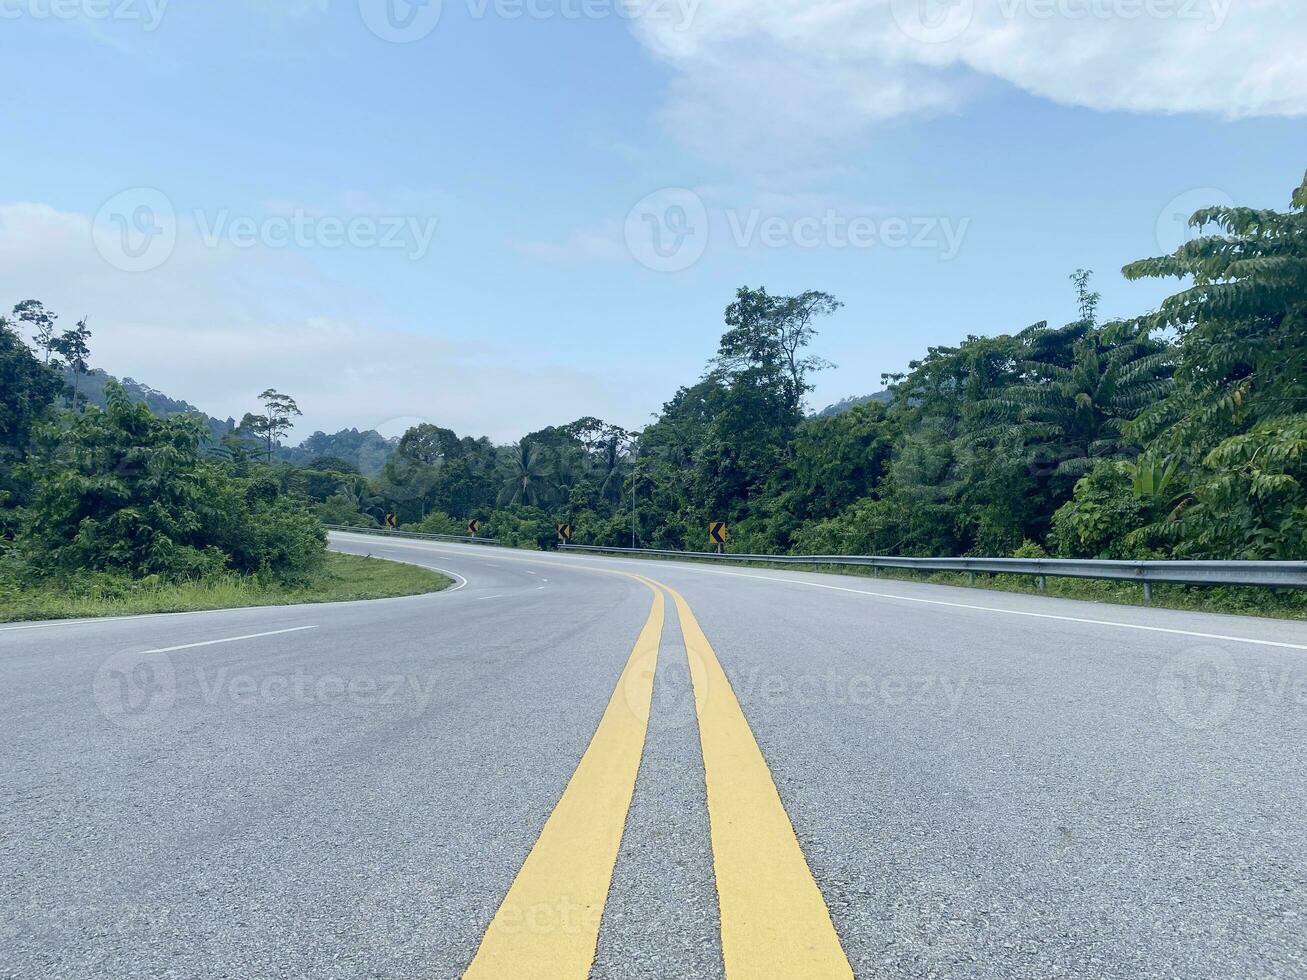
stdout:
<svg viewBox="0 0 1307 980">
<path fill-rule="evenodd" d="M 846 303 L 819 408 L 1077 268 L 1145 311 L 1175 214 L 1307 169 L 1290 0 L 51 1 L 0 0 L 0 306 L 299 435 L 637 426 L 744 284 Z"/>
</svg>

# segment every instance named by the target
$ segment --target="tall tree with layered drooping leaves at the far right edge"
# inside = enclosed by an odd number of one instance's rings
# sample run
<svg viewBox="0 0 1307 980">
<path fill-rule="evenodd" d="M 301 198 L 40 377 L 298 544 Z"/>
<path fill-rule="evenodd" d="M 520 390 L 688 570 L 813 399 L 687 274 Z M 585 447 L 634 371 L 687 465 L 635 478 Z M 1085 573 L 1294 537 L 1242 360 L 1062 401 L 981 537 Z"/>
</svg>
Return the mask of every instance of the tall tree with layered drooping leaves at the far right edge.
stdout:
<svg viewBox="0 0 1307 980">
<path fill-rule="evenodd" d="M 1154 456 L 1179 460 L 1189 486 L 1150 533 L 1180 555 L 1302 558 L 1307 176 L 1287 212 L 1205 208 L 1189 223 L 1216 234 L 1124 270 L 1191 282 L 1138 321 L 1178 336 L 1176 385 L 1131 431 Z"/>
</svg>

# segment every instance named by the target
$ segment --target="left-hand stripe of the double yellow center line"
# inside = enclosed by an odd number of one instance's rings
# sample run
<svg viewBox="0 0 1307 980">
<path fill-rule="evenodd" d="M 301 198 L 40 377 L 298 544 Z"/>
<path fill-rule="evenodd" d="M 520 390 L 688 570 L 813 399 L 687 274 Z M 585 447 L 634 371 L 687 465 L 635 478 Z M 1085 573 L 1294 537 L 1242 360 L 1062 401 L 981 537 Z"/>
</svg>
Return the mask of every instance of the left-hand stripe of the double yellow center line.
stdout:
<svg viewBox="0 0 1307 980">
<path fill-rule="evenodd" d="M 465 977 L 575 980 L 589 973 L 644 751 L 663 638 L 663 593 L 644 584 L 654 593 L 648 621 Z"/>
</svg>

